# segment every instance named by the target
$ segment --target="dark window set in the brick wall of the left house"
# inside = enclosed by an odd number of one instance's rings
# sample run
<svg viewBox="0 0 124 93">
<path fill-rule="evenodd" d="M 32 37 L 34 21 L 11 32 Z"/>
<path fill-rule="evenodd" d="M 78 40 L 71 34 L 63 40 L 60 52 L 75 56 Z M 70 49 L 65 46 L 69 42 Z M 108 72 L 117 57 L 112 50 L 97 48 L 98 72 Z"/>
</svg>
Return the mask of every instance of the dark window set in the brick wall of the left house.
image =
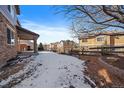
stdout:
<svg viewBox="0 0 124 93">
<path fill-rule="evenodd" d="M 12 45 L 14 43 L 15 43 L 14 33 L 9 28 L 7 28 L 7 44 Z"/>
</svg>

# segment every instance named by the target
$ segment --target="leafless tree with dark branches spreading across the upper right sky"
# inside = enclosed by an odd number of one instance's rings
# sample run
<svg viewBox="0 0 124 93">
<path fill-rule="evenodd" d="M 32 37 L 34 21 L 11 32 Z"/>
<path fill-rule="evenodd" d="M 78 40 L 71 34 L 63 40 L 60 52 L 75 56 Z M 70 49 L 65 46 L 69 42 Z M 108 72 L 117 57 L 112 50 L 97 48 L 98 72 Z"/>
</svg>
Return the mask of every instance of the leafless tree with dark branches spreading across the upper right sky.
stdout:
<svg viewBox="0 0 124 93">
<path fill-rule="evenodd" d="M 101 31 L 110 27 L 124 29 L 124 6 L 62 6 L 58 13 L 72 19 L 71 30 L 77 36 L 80 32 Z"/>
</svg>

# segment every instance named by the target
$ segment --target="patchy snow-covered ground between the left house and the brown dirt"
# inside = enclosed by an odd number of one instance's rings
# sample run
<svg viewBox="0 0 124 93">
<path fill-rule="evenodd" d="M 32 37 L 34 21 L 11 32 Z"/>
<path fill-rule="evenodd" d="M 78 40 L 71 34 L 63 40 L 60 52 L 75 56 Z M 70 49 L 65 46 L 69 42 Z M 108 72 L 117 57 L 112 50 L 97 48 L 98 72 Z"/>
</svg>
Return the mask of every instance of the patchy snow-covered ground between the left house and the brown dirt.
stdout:
<svg viewBox="0 0 124 93">
<path fill-rule="evenodd" d="M 21 73 L 18 72 L 16 75 L 11 76 L 11 79 L 19 76 L 22 73 L 26 73 L 26 71 L 33 69 L 34 67 L 34 73 L 14 87 L 90 87 L 90 85 L 86 83 L 84 79 L 84 61 L 72 56 L 56 54 L 53 52 L 40 52 L 34 61 L 28 63 L 23 71 L 20 71 Z"/>
</svg>

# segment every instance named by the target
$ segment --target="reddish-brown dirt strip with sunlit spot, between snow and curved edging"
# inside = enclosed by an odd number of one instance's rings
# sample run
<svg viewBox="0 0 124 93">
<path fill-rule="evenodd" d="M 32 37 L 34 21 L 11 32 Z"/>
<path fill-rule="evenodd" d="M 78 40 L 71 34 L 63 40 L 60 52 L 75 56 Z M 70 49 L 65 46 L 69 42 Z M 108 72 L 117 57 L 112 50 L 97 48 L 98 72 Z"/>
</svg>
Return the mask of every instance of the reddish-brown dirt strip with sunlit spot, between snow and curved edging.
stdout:
<svg viewBox="0 0 124 93">
<path fill-rule="evenodd" d="M 95 82 L 97 87 L 124 87 L 124 79 L 110 73 L 100 64 L 99 57 L 101 56 L 80 56 L 80 59 L 86 60 L 85 74 Z"/>
</svg>

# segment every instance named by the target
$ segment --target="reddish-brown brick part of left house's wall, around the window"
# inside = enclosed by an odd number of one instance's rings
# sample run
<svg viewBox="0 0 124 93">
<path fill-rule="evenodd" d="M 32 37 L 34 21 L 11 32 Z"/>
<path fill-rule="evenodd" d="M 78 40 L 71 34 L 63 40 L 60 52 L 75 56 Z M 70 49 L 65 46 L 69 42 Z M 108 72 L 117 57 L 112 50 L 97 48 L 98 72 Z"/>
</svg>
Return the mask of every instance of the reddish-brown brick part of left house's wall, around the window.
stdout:
<svg viewBox="0 0 124 93">
<path fill-rule="evenodd" d="M 14 30 L 15 44 L 7 44 L 7 25 Z M 9 21 L 0 13 L 0 68 L 6 64 L 6 62 L 14 58 L 17 54 L 17 33 L 16 28 L 13 27 Z"/>
</svg>

